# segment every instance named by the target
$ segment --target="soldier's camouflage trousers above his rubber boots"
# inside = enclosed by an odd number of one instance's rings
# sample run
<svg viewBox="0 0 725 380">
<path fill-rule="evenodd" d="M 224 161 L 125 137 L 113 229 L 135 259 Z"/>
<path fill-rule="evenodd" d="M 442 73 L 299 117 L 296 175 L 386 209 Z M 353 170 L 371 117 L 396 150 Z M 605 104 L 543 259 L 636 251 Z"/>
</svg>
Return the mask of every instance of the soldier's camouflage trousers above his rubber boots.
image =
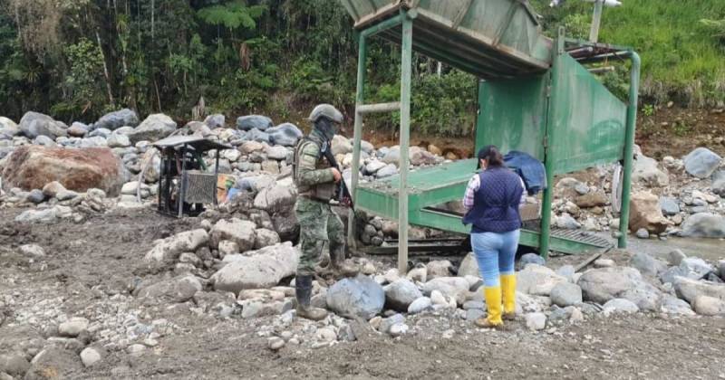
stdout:
<svg viewBox="0 0 725 380">
<path fill-rule="evenodd" d="M 302 256 L 297 266 L 298 275 L 313 275 L 320 261 L 324 244 L 329 242 L 330 258 L 344 254 L 345 233 L 343 221 L 333 212 L 330 204 L 299 197 L 295 204 L 297 222 L 300 223 Z"/>
</svg>

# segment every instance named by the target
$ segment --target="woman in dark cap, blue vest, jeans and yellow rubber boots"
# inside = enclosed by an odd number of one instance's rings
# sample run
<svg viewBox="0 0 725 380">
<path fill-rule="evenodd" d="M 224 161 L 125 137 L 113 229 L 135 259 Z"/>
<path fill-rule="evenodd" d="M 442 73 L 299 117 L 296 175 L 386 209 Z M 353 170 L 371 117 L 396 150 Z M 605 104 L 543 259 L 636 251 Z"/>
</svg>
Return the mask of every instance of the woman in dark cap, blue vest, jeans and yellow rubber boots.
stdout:
<svg viewBox="0 0 725 380">
<path fill-rule="evenodd" d="M 520 204 L 526 202 L 524 181 L 507 169 L 498 148 L 478 151 L 480 173 L 473 176 L 463 197 L 464 224 L 472 224 L 470 242 L 484 281 L 487 318 L 480 328 L 499 328 L 513 320 L 516 306 L 514 258 L 521 228 Z M 501 299 L 503 298 L 503 316 Z"/>
</svg>

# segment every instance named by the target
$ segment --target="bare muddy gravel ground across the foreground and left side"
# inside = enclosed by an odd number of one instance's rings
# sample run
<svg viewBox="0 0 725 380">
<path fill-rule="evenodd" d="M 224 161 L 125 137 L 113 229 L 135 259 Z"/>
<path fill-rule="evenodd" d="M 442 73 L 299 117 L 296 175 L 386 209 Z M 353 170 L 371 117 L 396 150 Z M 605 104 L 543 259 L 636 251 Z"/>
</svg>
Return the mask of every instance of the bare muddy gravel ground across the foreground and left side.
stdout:
<svg viewBox="0 0 725 380">
<path fill-rule="evenodd" d="M 155 239 L 199 222 L 127 210 L 92 216 L 82 224 L 19 225 L 12 222 L 18 212 L 0 211 L 0 299 L 14 299 L 14 306 L 0 310 L 5 315 L 0 353 L 47 334 L 43 318 L 13 326 L 15 318 L 37 305 L 92 317 L 99 305 L 128 295 L 134 278 L 163 276 L 168 269 L 149 268 L 142 256 Z M 43 246 L 46 257 L 29 262 L 17 256 L 15 248 L 26 243 Z M 177 328 L 142 356 L 110 350 L 101 363 L 70 377 L 725 378 L 723 318 L 600 317 L 535 333 L 520 321 L 506 331 L 490 331 L 447 314 L 426 314 L 409 319 L 411 331 L 400 338 L 356 323 L 356 342 L 318 349 L 287 345 L 273 352 L 257 330 L 274 317 L 220 319 L 188 307 L 143 306 L 133 300 L 123 308 L 139 309 L 141 320 L 149 323 L 166 318 Z"/>
</svg>

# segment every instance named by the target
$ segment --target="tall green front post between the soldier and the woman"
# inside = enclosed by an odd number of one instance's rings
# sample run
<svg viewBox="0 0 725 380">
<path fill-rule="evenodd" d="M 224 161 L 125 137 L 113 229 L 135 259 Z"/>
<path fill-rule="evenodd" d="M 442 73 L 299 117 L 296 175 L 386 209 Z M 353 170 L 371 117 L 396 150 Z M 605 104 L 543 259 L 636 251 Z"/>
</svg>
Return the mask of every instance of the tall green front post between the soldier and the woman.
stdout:
<svg viewBox="0 0 725 380">
<path fill-rule="evenodd" d="M 398 190 L 398 272 L 408 271 L 408 160 L 411 144 L 411 70 L 413 21 L 402 22 L 401 54 L 401 183 Z"/>
</svg>

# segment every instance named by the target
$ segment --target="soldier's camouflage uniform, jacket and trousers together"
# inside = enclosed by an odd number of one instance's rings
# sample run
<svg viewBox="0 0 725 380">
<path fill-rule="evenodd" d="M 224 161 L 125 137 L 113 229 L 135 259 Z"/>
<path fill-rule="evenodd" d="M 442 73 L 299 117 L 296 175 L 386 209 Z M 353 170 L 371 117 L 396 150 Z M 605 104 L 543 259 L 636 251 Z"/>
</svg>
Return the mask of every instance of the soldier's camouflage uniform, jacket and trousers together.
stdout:
<svg viewBox="0 0 725 380">
<path fill-rule="evenodd" d="M 320 261 L 325 242 L 329 242 L 330 256 L 344 257 L 344 225 L 329 204 L 335 190 L 333 169 L 324 158 L 326 145 L 316 129 L 297 144 L 295 149 L 295 185 L 299 197 L 295 214 L 300 223 L 302 257 L 297 267 L 298 275 L 313 275 Z M 339 257 L 339 256 L 338 256 Z"/>
</svg>

